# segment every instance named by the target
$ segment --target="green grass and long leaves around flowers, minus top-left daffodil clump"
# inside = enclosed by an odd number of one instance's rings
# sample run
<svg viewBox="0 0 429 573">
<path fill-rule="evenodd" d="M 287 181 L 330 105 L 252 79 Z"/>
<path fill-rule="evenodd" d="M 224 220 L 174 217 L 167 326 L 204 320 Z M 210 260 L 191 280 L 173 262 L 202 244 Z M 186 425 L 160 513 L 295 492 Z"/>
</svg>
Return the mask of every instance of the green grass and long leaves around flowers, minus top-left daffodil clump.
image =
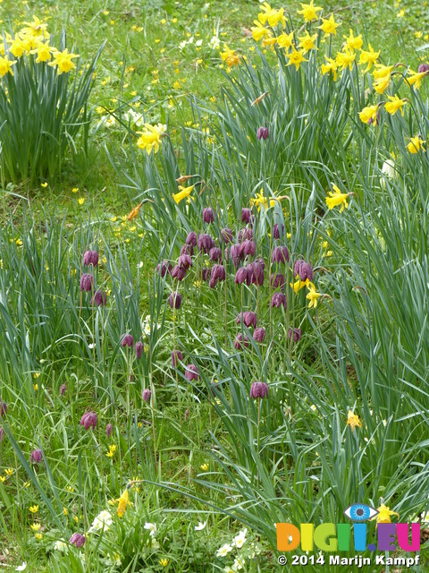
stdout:
<svg viewBox="0 0 429 573">
<path fill-rule="evenodd" d="M 284 55 L 259 52 L 246 34 L 257 2 L 133 2 L 121 11 L 98 0 L 0 5 L 13 29 L 33 13 L 47 17 L 56 35 L 65 28 L 68 45 L 86 59 L 106 40 L 90 100 L 88 155 L 79 146 L 70 151 L 46 188 L 23 181 L 3 192 L 0 398 L 8 412 L 0 555 L 13 567 L 26 560 L 30 571 L 208 573 L 241 553 L 244 570 L 265 573 L 278 570 L 276 521 L 336 523 L 357 499 L 374 507 L 385 500 L 401 521 L 419 517 L 429 483 L 429 164 L 426 152 L 411 155 L 406 144 L 416 133 L 427 139 L 427 86 L 416 93 L 395 76 L 389 93 L 408 97 L 404 117 L 383 110 L 380 125 L 369 127 L 357 115 L 377 101 L 365 93 L 368 78 L 364 84 L 345 71 L 333 83 L 315 58 L 295 73 Z M 416 69 L 424 59 L 415 48 L 427 41 L 429 21 L 418 3 L 324 8 L 342 21 L 332 47 L 352 27 L 383 48 L 386 64 Z M 219 49 L 207 46 L 214 30 L 221 47 L 240 49 L 249 64 L 226 73 Z M 123 121 L 131 101 L 151 124 L 168 124 L 150 158 Z M 102 116 L 114 125 L 97 126 Z M 270 138 L 258 141 L 265 123 Z M 382 167 L 392 152 L 397 175 L 389 178 Z M 198 175 L 194 201 L 172 200 L 178 175 Z M 354 193 L 343 212 L 326 208 L 332 184 Z M 155 272 L 158 261 L 175 264 L 191 230 L 239 232 L 241 208 L 261 190 L 266 199 L 281 197 L 270 210 L 255 208 L 264 286 L 236 285 L 230 259 L 226 281 L 210 288 L 201 269 L 213 263 L 197 252 L 181 283 Z M 149 201 L 139 217 L 126 220 L 142 198 Z M 207 206 L 215 211 L 210 227 L 202 222 Z M 285 227 L 277 243 L 274 223 Z M 271 265 L 274 245 L 283 243 L 291 261 L 304 258 L 315 269 L 323 295 L 315 310 L 307 289 L 295 294 L 289 286 L 290 266 Z M 100 254 L 94 275 L 107 304 L 99 308 L 80 291 L 81 273 L 92 272 L 82 265 L 88 249 Z M 283 308 L 271 304 L 269 278 L 278 272 L 285 275 Z M 167 301 L 177 288 L 183 301 L 173 312 Z M 246 350 L 233 344 L 239 334 L 252 336 L 237 324 L 242 309 L 257 312 L 266 329 L 264 343 L 251 340 Z M 297 344 L 292 327 L 302 331 Z M 139 360 L 121 346 L 127 332 L 143 342 Z M 173 348 L 184 355 L 176 368 Z M 198 381 L 186 378 L 189 363 L 197 364 Z M 269 383 L 269 399 L 248 398 L 253 381 Z M 149 403 L 143 389 L 152 392 Z M 353 432 L 349 410 L 362 422 Z M 80 425 L 87 411 L 97 412 L 95 430 Z M 43 451 L 38 466 L 29 464 L 33 449 Z M 132 480 L 139 481 L 130 489 L 134 505 L 118 517 L 109 500 Z M 111 529 L 88 534 L 84 562 L 77 549 L 65 557 L 55 548 L 88 532 L 105 509 L 113 513 Z M 156 524 L 155 545 L 145 523 Z M 243 527 L 243 550 L 218 556 Z"/>
</svg>

